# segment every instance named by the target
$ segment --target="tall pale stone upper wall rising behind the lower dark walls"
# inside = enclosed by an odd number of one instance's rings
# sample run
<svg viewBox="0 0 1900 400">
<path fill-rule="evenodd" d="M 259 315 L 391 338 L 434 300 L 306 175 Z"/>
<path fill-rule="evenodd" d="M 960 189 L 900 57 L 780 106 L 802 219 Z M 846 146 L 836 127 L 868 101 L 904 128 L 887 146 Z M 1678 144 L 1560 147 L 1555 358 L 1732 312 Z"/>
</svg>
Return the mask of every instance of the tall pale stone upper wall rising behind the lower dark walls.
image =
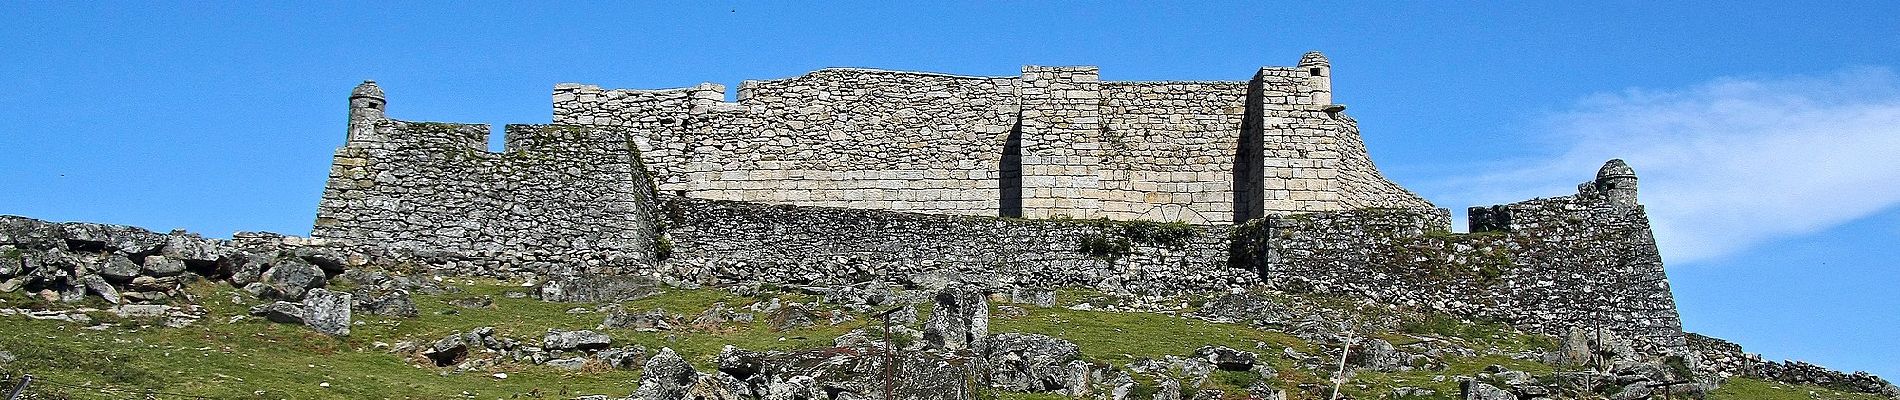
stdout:
<svg viewBox="0 0 1900 400">
<path fill-rule="evenodd" d="M 826 68 L 724 91 L 562 83 L 553 119 L 627 127 L 657 188 L 697 199 L 1189 224 L 1434 209 L 1378 173 L 1317 53 L 1246 82 Z"/>
</svg>

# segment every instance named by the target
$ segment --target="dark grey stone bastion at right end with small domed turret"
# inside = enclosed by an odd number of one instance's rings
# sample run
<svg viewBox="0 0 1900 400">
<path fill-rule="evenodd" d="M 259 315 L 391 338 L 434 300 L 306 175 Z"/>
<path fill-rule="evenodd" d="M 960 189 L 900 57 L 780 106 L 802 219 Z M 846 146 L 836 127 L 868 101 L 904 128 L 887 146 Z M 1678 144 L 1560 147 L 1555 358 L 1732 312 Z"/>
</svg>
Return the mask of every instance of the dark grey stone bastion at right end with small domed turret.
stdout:
<svg viewBox="0 0 1900 400">
<path fill-rule="evenodd" d="M 1237 248 L 1246 254 L 1239 262 L 1282 290 L 1362 296 L 1547 334 L 1604 328 L 1651 351 L 1683 345 L 1642 207 L 1588 190 L 1471 214 L 1474 233 L 1450 233 L 1442 216 L 1398 209 L 1269 216 L 1237 227 Z"/>
</svg>

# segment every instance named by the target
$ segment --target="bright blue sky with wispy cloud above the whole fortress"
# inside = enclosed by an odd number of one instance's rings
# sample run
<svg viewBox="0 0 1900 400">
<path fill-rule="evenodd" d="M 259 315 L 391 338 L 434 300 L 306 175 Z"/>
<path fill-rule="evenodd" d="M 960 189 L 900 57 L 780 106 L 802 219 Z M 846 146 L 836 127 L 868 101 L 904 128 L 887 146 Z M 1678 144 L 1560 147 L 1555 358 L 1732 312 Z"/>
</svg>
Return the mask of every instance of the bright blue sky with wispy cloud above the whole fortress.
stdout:
<svg viewBox="0 0 1900 400">
<path fill-rule="evenodd" d="M 1309 49 L 1440 207 L 1624 157 L 1687 330 L 1900 377 L 1900 2 L 0 4 L 0 214 L 308 233 L 346 95 L 534 123 L 559 82 L 825 66 L 1246 80 Z"/>
</svg>

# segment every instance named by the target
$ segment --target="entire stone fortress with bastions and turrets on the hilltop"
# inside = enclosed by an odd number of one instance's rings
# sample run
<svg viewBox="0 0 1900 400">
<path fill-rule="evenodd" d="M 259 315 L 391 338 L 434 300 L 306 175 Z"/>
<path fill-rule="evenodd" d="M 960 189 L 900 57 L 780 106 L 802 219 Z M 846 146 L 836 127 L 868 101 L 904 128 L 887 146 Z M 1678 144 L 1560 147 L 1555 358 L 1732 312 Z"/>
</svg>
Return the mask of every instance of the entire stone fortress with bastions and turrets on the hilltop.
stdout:
<svg viewBox="0 0 1900 400">
<path fill-rule="evenodd" d="M 365 82 L 312 237 L 553 279 L 1349 294 L 1685 345 L 1628 165 L 1452 233 L 1372 165 L 1330 80 L 1307 53 L 1239 82 L 826 68 L 732 102 L 560 83 L 504 152 L 486 125 L 386 118 Z"/>
</svg>

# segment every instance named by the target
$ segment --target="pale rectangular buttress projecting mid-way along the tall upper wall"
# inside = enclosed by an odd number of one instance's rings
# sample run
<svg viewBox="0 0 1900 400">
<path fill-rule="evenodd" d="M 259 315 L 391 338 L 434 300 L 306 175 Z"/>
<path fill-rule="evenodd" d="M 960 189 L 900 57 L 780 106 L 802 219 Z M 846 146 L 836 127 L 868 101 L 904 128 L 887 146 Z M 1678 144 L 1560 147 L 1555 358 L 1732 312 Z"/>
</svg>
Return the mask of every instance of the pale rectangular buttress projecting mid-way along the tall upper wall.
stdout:
<svg viewBox="0 0 1900 400">
<path fill-rule="evenodd" d="M 1102 214 L 1102 83 L 1094 66 L 1022 66 L 1022 216 Z"/>
</svg>

